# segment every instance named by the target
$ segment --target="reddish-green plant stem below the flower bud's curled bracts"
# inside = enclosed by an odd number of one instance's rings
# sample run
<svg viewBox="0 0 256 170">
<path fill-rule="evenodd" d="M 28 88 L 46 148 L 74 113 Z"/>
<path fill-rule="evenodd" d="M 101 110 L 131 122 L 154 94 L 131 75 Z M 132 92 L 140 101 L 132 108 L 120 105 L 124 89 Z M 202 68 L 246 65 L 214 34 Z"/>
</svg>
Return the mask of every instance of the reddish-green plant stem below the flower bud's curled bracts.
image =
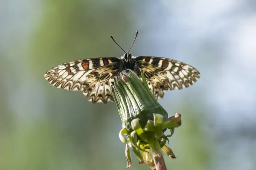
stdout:
<svg viewBox="0 0 256 170">
<path fill-rule="evenodd" d="M 166 164 L 164 162 L 163 155 L 161 152 L 159 141 L 155 139 L 154 133 L 150 137 L 148 136 L 148 144 L 151 149 L 151 156 L 154 160 L 156 170 L 167 170 Z"/>
</svg>

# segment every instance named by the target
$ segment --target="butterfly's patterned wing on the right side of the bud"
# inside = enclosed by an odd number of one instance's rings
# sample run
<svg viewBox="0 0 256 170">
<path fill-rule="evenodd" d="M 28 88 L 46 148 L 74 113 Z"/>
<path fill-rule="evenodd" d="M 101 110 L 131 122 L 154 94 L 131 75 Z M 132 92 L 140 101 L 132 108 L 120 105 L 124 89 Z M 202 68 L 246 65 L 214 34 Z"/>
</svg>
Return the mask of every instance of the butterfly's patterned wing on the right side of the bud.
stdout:
<svg viewBox="0 0 256 170">
<path fill-rule="evenodd" d="M 156 99 L 167 90 L 187 88 L 200 78 L 199 71 L 191 65 L 174 59 L 139 56 L 136 61 Z"/>
</svg>

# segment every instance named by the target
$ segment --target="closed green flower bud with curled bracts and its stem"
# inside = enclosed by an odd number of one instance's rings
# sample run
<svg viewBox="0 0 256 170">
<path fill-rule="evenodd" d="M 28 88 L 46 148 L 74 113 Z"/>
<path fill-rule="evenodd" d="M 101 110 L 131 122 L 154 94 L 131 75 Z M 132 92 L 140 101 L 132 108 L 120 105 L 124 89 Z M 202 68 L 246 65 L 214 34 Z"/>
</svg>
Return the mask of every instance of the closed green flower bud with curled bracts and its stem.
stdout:
<svg viewBox="0 0 256 170">
<path fill-rule="evenodd" d="M 165 144 L 174 128 L 181 125 L 180 114 L 168 118 L 168 113 L 154 99 L 143 72 L 139 70 L 137 74 L 130 69 L 119 73 L 115 77 L 112 94 L 122 121 L 119 138 L 126 144 L 127 168 L 131 167 L 131 147 L 139 163 L 145 162 L 151 169 L 165 170 L 162 151 L 176 158 Z M 166 129 L 171 131 L 171 135 L 164 135 Z"/>
</svg>

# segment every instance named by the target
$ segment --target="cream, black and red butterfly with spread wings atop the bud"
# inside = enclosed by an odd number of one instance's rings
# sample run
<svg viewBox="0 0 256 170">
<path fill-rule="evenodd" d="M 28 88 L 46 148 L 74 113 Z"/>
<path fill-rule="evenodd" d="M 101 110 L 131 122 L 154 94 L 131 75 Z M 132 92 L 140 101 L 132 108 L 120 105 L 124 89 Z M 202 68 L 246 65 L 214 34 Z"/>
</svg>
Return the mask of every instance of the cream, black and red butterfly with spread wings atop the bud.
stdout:
<svg viewBox="0 0 256 170">
<path fill-rule="evenodd" d="M 136 37 L 137 34 L 138 31 Z M 116 43 L 112 36 L 111 38 Z M 155 99 L 162 98 L 167 90 L 187 88 L 200 78 L 199 71 L 184 62 L 163 57 L 135 57 L 129 51 L 120 58 L 104 57 L 65 62 L 51 68 L 44 77 L 57 88 L 83 91 L 93 103 L 113 101 L 111 85 L 114 84 L 114 77 L 128 68 L 143 70 Z"/>
</svg>

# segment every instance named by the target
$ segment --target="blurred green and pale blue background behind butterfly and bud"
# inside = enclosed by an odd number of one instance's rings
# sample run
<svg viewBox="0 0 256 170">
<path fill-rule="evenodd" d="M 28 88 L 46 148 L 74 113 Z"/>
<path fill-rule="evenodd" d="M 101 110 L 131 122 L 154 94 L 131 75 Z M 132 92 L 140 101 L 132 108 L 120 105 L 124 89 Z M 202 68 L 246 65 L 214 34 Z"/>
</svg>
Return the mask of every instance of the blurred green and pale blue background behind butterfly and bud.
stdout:
<svg viewBox="0 0 256 170">
<path fill-rule="evenodd" d="M 135 56 L 186 62 L 201 79 L 159 102 L 181 113 L 169 170 L 256 169 L 254 0 L 1 0 L 0 170 L 125 170 L 115 103 L 50 85 L 76 59 Z M 131 170 L 149 170 L 132 155 Z"/>
</svg>

